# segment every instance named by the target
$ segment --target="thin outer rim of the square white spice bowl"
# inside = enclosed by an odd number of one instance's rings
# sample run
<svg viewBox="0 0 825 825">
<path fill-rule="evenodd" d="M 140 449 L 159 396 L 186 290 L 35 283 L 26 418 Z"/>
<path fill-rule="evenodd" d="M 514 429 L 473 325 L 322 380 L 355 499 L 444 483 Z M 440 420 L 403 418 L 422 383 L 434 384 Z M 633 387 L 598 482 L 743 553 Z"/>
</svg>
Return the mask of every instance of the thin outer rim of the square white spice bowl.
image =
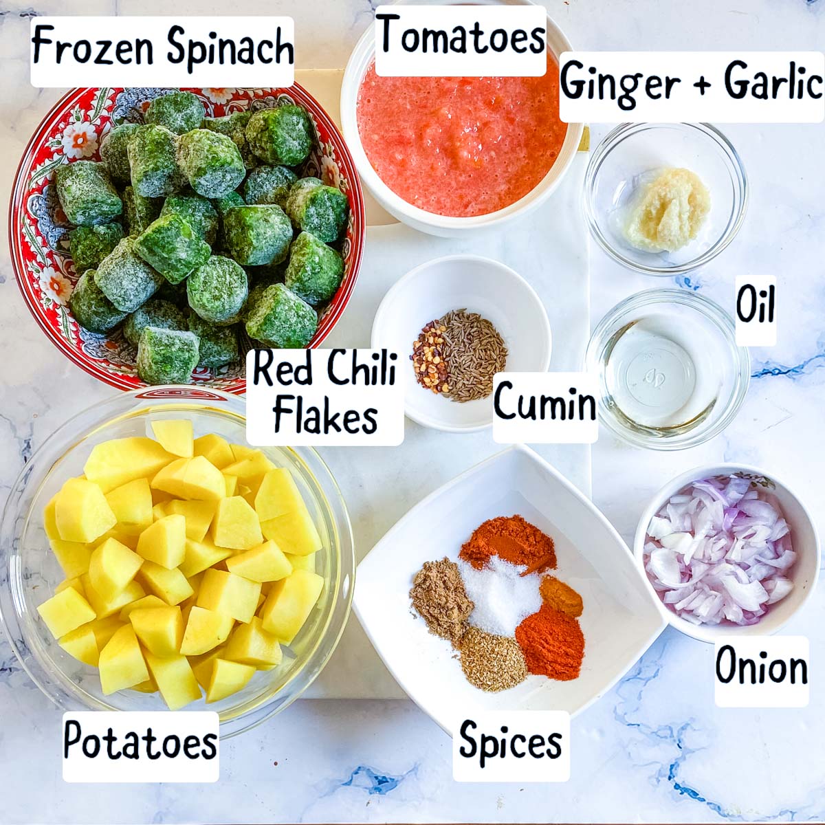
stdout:
<svg viewBox="0 0 825 825">
<path fill-rule="evenodd" d="M 429 495 L 423 497 L 420 502 L 416 502 L 415 504 L 413 504 L 412 507 L 409 507 L 408 510 L 398 518 L 398 521 L 396 521 L 395 524 L 392 527 L 390 527 L 389 530 L 387 530 L 387 532 L 384 533 L 384 535 L 382 535 L 378 541 L 375 542 L 373 547 L 370 548 L 370 552 L 367 553 L 365 557 L 361 559 L 361 561 L 358 563 L 358 567 L 361 567 L 361 564 L 365 563 L 370 558 L 370 553 L 372 553 L 375 547 L 377 547 L 379 544 L 384 544 L 384 541 L 393 538 L 396 533 L 400 532 L 401 522 L 406 519 L 406 517 L 409 515 L 410 512 L 413 511 L 413 509 L 425 506 L 427 505 L 427 503 L 431 501 L 435 501 L 436 497 L 440 496 L 445 489 L 456 487 L 458 484 L 463 483 L 465 479 L 469 478 L 469 476 L 478 473 L 487 464 L 493 464 L 495 461 L 501 460 L 505 455 L 512 452 L 520 452 L 526 455 L 527 458 L 535 462 L 535 464 L 538 464 L 540 468 L 544 470 L 545 473 L 553 476 L 553 478 L 557 482 L 559 482 L 564 488 L 566 488 L 569 493 L 572 493 L 573 496 L 580 499 L 582 503 L 584 503 L 585 506 L 588 507 L 592 515 L 596 517 L 596 520 L 600 521 L 601 525 L 606 528 L 606 530 L 610 534 L 610 537 L 615 539 L 620 544 L 620 547 L 624 549 L 627 554 L 629 554 L 629 556 L 633 556 L 633 553 L 629 549 L 627 542 L 621 537 L 619 531 L 615 529 L 613 524 L 610 522 L 610 519 L 608 519 L 607 516 L 603 512 L 601 512 L 601 510 L 598 507 L 596 507 L 592 500 L 589 497 L 587 497 L 584 493 L 582 493 L 582 491 L 579 488 L 577 488 L 576 485 L 573 484 L 573 482 L 568 481 L 568 479 L 566 479 L 564 475 L 553 466 L 553 464 L 550 464 L 549 461 L 544 460 L 544 458 L 542 458 L 542 456 L 535 452 L 535 450 L 531 450 L 530 447 L 524 444 L 512 444 L 508 447 L 505 447 L 503 450 L 498 450 L 498 452 L 493 453 L 493 455 L 489 455 L 486 459 L 479 461 L 477 464 L 473 464 L 471 467 L 465 469 L 460 474 L 454 476 L 446 483 L 441 484 L 441 486 L 433 490 L 432 493 L 429 493 Z M 358 567 L 356 567 L 356 573 L 358 572 Z M 647 577 L 646 574 L 644 577 Z M 404 686 L 403 679 L 400 676 L 398 676 L 398 673 L 395 672 L 392 664 L 388 662 L 386 658 L 384 658 L 384 654 L 381 653 L 381 650 L 378 644 L 376 643 L 373 634 L 370 633 L 369 627 L 366 625 L 365 620 L 361 616 L 359 594 L 363 592 L 363 584 L 359 584 L 359 582 L 363 582 L 363 577 L 359 577 L 356 575 L 356 585 L 352 596 L 352 612 L 355 613 L 355 615 L 357 616 L 359 624 L 364 629 L 364 633 L 366 634 L 367 638 L 370 639 L 370 644 L 372 644 L 373 648 L 375 648 L 375 653 L 378 653 L 381 661 L 384 662 L 384 667 L 386 667 L 387 670 L 389 670 L 390 675 L 393 676 L 394 680 L 398 682 L 398 686 L 400 686 L 401 689 L 405 693 L 407 693 L 409 698 L 413 700 L 413 702 L 415 702 L 415 704 L 420 709 L 422 709 L 422 711 L 425 714 L 431 716 L 430 712 L 418 703 L 418 700 L 415 698 L 415 696 L 408 693 L 407 688 Z M 653 594 L 650 601 L 659 601 L 658 596 L 655 596 L 655 594 Z M 634 662 L 638 661 L 639 658 L 642 658 L 643 655 L 648 652 L 648 650 L 651 648 L 656 639 L 658 639 L 659 636 L 662 634 L 662 630 L 664 630 L 666 627 L 667 622 L 664 620 L 664 617 L 660 614 L 659 624 L 657 625 L 656 629 L 653 630 L 653 633 L 651 633 L 646 639 L 644 639 L 643 649 L 639 649 L 639 653 L 635 656 Z M 631 664 L 629 667 L 633 667 L 633 665 Z M 587 702 L 585 702 L 581 707 L 577 708 L 573 712 L 573 714 L 571 714 L 571 717 L 577 716 L 584 710 L 587 710 L 587 708 L 596 703 L 598 700 L 602 698 L 602 696 L 606 695 L 610 690 L 612 690 L 613 687 L 625 677 L 629 670 L 629 667 L 626 668 L 624 671 L 619 672 L 614 678 L 610 680 L 609 683 L 606 683 L 606 685 L 603 686 L 600 691 L 597 691 L 594 695 L 592 695 L 592 697 L 589 700 L 587 700 Z M 433 719 L 433 721 L 435 721 L 436 724 L 441 728 L 441 730 L 443 730 L 448 736 L 452 735 L 453 732 L 448 730 L 443 724 L 441 724 L 441 722 L 438 719 L 435 719 L 432 716 L 431 719 Z"/>
</svg>

